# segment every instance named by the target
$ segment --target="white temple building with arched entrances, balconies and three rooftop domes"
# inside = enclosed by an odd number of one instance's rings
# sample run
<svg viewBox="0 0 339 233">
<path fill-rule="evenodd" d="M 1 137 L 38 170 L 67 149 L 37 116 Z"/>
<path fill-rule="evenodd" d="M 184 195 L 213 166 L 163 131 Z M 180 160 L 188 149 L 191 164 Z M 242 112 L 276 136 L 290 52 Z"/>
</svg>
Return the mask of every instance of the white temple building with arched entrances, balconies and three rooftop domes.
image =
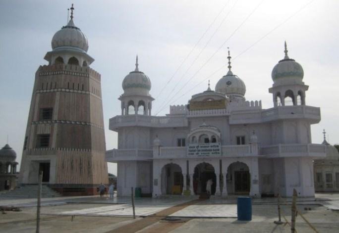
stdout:
<svg viewBox="0 0 339 233">
<path fill-rule="evenodd" d="M 106 158 L 117 163 L 117 195 L 130 195 L 131 187 L 153 197 L 198 195 L 212 179 L 212 195 L 291 196 L 295 188 L 314 196 L 313 160 L 327 150 L 311 140 L 320 108 L 306 105 L 303 69 L 286 44 L 284 53 L 272 71 L 272 108 L 245 100 L 228 52 L 228 72 L 215 91 L 170 106 L 166 116 L 152 116 L 151 80 L 137 60 L 122 81 L 121 115 L 110 119 L 118 148 Z"/>
</svg>

